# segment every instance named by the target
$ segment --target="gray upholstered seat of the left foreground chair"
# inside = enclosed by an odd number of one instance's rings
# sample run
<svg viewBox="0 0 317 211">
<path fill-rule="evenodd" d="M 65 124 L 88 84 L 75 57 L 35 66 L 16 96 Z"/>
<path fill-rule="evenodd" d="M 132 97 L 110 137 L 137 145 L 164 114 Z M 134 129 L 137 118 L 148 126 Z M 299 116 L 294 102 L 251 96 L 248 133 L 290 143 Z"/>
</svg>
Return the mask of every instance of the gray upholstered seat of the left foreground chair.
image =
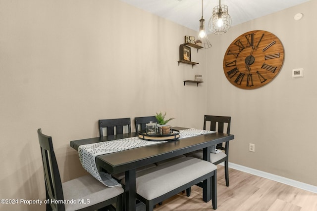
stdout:
<svg viewBox="0 0 317 211">
<path fill-rule="evenodd" d="M 75 211 L 87 207 L 87 204 L 79 203 L 78 200 L 95 205 L 123 193 L 122 187 L 107 187 L 91 175 L 81 176 L 62 183 L 64 200 L 75 200 L 77 203 L 65 204 L 66 211 Z"/>
</svg>

